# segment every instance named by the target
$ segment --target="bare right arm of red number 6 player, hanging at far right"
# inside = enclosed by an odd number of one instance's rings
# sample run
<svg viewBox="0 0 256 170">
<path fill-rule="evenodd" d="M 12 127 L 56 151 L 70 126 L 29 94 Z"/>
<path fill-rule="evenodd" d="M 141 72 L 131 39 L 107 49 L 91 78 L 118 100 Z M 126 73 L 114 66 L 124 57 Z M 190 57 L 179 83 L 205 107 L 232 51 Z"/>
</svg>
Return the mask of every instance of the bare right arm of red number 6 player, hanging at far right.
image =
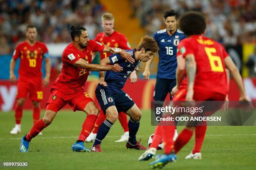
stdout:
<svg viewBox="0 0 256 170">
<path fill-rule="evenodd" d="M 235 63 L 232 61 L 230 56 L 225 57 L 224 62 L 225 62 L 225 66 L 228 68 L 228 70 L 230 71 L 233 79 L 235 80 L 236 85 L 238 86 L 238 90 L 239 90 L 239 93 L 240 93 L 240 99 L 239 100 L 249 101 L 249 98 L 247 97 L 246 91 L 245 91 L 244 86 L 243 86 L 242 77 L 241 77 L 240 72 L 237 69 Z"/>
</svg>

